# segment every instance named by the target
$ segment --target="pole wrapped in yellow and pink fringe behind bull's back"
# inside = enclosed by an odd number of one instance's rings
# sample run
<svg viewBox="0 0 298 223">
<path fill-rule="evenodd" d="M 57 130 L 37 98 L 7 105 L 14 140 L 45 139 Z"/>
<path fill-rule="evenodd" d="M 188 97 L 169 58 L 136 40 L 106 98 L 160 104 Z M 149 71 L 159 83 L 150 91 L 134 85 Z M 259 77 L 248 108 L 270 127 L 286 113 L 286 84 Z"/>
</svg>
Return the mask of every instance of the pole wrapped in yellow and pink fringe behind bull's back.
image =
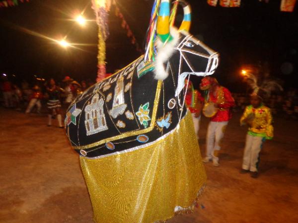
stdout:
<svg viewBox="0 0 298 223">
<path fill-rule="evenodd" d="M 108 28 L 108 11 L 111 7 L 111 0 L 91 0 L 92 9 L 96 15 L 96 23 L 98 25 L 98 55 L 97 55 L 97 78 L 96 81 L 105 78 L 106 75 L 106 45 L 105 41 L 109 35 Z"/>
</svg>

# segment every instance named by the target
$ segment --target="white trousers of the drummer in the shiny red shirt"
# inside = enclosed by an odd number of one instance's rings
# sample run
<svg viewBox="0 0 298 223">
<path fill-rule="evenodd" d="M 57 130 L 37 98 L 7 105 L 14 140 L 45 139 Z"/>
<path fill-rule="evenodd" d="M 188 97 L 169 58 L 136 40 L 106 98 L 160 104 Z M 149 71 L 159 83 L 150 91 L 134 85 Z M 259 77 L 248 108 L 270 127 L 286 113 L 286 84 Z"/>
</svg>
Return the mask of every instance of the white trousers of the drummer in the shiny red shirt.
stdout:
<svg viewBox="0 0 298 223">
<path fill-rule="evenodd" d="M 221 149 L 221 141 L 224 137 L 225 127 L 228 121 L 210 121 L 207 130 L 206 156 L 219 161 L 218 151 Z"/>
</svg>

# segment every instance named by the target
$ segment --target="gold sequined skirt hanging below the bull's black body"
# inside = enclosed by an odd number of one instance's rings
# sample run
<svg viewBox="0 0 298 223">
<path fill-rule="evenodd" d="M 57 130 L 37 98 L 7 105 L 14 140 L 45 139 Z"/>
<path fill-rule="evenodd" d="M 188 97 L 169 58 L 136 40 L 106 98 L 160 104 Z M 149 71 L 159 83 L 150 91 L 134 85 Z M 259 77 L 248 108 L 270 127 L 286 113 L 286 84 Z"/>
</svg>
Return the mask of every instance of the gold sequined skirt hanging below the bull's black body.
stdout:
<svg viewBox="0 0 298 223">
<path fill-rule="evenodd" d="M 147 147 L 109 157 L 80 157 L 96 223 L 154 223 L 192 207 L 206 182 L 191 114 Z M 188 134 L 186 134 L 188 133 Z"/>
</svg>

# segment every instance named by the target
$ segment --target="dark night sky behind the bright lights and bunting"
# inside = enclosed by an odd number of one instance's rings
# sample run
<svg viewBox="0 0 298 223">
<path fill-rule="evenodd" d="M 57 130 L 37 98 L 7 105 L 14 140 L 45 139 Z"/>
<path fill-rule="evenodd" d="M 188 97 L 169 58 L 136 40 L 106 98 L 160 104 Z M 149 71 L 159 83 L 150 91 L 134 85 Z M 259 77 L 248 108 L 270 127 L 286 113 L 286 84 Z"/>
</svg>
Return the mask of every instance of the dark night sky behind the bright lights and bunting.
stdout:
<svg viewBox="0 0 298 223">
<path fill-rule="evenodd" d="M 140 45 L 144 45 L 153 0 L 117 0 Z M 221 55 L 216 77 L 235 91 L 243 64 L 268 62 L 273 77 L 285 86 L 297 86 L 298 4 L 292 13 L 280 11 L 280 0 L 269 3 L 241 0 L 240 8 L 212 7 L 206 0 L 189 0 L 192 6 L 191 33 Z M 95 19 L 90 0 L 31 0 L 0 8 L 0 73 L 15 80 L 33 75 L 61 80 L 96 78 L 97 25 L 80 27 L 70 21 L 86 7 L 84 16 Z M 182 15 L 177 16 L 181 20 Z M 130 43 L 112 6 L 107 40 L 107 72 L 122 68 L 140 53 Z M 28 34 L 28 30 L 52 39 L 68 34 L 70 43 L 86 44 L 64 49 L 53 41 Z"/>
</svg>

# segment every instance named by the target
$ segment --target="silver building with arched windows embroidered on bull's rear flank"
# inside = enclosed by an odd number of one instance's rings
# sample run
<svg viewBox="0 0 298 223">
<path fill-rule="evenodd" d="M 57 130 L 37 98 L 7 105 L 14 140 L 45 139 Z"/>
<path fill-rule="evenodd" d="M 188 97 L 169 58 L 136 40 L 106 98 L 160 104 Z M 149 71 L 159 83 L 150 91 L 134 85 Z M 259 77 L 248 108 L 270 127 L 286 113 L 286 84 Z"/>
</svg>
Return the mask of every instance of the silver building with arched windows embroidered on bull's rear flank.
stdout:
<svg viewBox="0 0 298 223">
<path fill-rule="evenodd" d="M 85 127 L 87 135 L 92 135 L 108 129 L 103 112 L 103 104 L 103 99 L 99 99 L 99 95 L 95 94 L 91 99 L 91 104 L 85 107 Z"/>
</svg>

